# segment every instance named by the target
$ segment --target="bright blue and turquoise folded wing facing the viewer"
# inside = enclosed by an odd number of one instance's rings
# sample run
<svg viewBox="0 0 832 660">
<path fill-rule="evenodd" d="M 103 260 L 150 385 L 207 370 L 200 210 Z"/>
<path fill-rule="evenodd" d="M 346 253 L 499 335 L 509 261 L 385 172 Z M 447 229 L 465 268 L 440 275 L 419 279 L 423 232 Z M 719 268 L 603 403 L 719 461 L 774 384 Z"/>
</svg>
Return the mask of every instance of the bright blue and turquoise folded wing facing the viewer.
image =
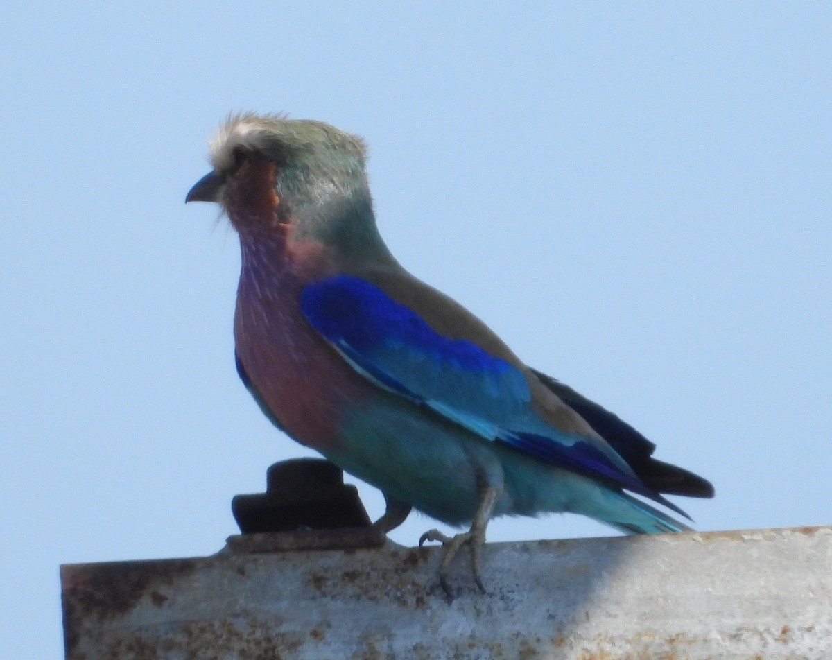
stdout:
<svg viewBox="0 0 832 660">
<path fill-rule="evenodd" d="M 522 371 L 478 345 L 439 335 L 414 310 L 351 275 L 308 285 L 306 320 L 376 385 L 495 442 L 676 509 L 641 482 L 602 439 L 547 424 Z"/>
</svg>

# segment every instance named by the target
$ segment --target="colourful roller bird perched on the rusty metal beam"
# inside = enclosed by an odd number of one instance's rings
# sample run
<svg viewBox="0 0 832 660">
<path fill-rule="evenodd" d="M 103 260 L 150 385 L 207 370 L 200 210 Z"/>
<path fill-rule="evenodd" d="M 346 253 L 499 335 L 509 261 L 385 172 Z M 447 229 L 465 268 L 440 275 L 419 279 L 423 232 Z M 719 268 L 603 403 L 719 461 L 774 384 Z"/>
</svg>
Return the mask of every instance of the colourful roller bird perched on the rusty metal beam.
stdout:
<svg viewBox="0 0 832 660">
<path fill-rule="evenodd" d="M 215 202 L 240 240 L 235 365 L 290 438 L 380 489 L 389 533 L 436 528 L 439 583 L 498 516 L 571 512 L 623 533 L 690 528 L 665 494 L 713 486 L 654 459 L 616 414 L 527 366 L 482 320 L 405 270 L 374 215 L 364 140 L 327 123 L 240 112 L 210 141 L 186 202 Z M 552 342 L 557 349 L 557 343 Z"/>
</svg>

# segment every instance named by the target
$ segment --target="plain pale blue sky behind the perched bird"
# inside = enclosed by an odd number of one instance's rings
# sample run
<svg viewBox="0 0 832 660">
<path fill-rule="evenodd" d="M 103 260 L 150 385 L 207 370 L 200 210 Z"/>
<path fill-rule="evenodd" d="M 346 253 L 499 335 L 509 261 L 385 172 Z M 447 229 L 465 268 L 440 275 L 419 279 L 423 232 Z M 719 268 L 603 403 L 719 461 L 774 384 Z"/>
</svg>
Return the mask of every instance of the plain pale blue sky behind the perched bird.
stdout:
<svg viewBox="0 0 832 660">
<path fill-rule="evenodd" d="M 0 658 L 61 657 L 59 564 L 215 553 L 310 455 L 235 375 L 233 231 L 183 203 L 231 111 L 364 136 L 399 261 L 711 479 L 697 528 L 832 523 L 830 3 L 3 13 Z"/>
</svg>

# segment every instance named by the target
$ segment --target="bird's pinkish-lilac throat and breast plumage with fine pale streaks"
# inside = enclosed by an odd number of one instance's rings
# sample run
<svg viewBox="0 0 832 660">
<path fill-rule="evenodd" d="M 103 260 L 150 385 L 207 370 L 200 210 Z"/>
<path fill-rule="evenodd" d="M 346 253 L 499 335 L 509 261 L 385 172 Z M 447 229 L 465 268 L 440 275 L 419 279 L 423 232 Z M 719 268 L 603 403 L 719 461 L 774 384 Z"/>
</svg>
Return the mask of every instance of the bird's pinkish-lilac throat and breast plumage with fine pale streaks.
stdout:
<svg viewBox="0 0 832 660">
<path fill-rule="evenodd" d="M 248 238 L 248 240 L 247 240 Z M 373 395 L 304 320 L 300 292 L 331 265 L 322 246 L 240 236 L 235 344 L 252 385 L 289 434 L 325 451 L 348 406 Z"/>
</svg>

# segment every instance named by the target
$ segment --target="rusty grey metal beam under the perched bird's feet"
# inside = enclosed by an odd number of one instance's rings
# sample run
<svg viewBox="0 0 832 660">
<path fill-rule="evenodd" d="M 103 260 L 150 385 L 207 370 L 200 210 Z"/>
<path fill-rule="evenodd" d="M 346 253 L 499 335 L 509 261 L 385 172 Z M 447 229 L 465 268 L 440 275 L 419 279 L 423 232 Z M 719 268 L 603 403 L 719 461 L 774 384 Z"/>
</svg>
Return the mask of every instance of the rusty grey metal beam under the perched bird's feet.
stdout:
<svg viewBox="0 0 832 660">
<path fill-rule="evenodd" d="M 832 527 L 62 567 L 67 658 L 832 658 Z"/>
</svg>

